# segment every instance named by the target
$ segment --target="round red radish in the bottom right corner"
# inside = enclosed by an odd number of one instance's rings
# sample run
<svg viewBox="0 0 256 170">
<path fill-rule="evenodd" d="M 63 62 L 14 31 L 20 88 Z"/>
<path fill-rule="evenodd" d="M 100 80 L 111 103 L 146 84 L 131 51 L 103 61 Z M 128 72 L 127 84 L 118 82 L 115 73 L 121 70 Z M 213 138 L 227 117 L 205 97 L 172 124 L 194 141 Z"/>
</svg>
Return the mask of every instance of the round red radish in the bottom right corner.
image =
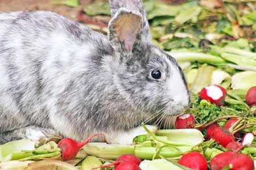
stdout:
<svg viewBox="0 0 256 170">
<path fill-rule="evenodd" d="M 234 155 L 229 162 L 230 165 L 232 165 L 231 170 L 253 170 L 254 164 L 253 160 L 250 158 L 250 156 L 246 154 L 236 154 Z M 231 166 L 230 166 L 231 167 Z"/>
</svg>

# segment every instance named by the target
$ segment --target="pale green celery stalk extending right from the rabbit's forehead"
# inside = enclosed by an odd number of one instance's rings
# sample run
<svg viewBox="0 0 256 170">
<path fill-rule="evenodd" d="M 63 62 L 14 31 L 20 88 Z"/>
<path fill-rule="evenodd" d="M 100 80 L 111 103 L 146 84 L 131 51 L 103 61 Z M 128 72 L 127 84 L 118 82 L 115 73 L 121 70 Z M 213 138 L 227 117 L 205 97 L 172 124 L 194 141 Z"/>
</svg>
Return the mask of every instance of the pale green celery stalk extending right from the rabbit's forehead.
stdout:
<svg viewBox="0 0 256 170">
<path fill-rule="evenodd" d="M 211 65 L 225 64 L 226 61 L 221 57 L 216 57 L 210 54 L 193 53 L 193 52 L 168 52 L 172 57 L 179 62 L 198 61 L 202 63 L 209 63 Z"/>
</svg>

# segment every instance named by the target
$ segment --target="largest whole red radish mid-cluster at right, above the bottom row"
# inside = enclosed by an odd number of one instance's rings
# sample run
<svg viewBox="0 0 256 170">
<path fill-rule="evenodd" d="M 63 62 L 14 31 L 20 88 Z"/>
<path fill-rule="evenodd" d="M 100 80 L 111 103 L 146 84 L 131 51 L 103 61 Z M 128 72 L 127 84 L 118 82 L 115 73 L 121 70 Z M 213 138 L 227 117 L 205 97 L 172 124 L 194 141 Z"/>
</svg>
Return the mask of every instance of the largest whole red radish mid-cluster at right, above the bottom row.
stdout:
<svg viewBox="0 0 256 170">
<path fill-rule="evenodd" d="M 212 131 L 212 138 L 222 146 L 228 145 L 230 142 L 235 141 L 234 135 L 225 128 L 215 128 Z"/>
</svg>

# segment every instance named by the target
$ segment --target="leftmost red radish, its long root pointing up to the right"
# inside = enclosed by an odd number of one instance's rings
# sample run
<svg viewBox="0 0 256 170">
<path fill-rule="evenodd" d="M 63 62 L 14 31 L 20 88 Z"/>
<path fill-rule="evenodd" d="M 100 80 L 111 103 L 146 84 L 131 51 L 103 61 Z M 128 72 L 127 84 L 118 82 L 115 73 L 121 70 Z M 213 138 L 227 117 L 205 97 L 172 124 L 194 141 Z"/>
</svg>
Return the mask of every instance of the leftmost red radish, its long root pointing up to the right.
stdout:
<svg viewBox="0 0 256 170">
<path fill-rule="evenodd" d="M 76 157 L 77 153 L 79 152 L 80 148 L 86 145 L 86 143 L 90 142 L 93 137 L 96 137 L 101 134 L 93 134 L 89 138 L 85 139 L 84 141 L 74 141 L 71 138 L 64 138 L 58 143 L 58 147 L 61 150 L 61 158 L 63 160 L 72 160 Z"/>
</svg>

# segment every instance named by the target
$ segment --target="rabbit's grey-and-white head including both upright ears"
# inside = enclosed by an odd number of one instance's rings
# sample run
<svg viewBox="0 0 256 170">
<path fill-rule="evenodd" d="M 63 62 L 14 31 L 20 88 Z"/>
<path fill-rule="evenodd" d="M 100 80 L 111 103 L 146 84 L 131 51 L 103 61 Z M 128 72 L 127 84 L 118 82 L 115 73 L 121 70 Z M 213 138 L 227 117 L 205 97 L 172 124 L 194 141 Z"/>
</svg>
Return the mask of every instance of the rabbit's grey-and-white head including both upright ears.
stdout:
<svg viewBox="0 0 256 170">
<path fill-rule="evenodd" d="M 110 0 L 110 6 L 108 39 L 119 93 L 146 112 L 182 112 L 189 104 L 184 74 L 174 58 L 152 44 L 141 0 Z"/>
</svg>

